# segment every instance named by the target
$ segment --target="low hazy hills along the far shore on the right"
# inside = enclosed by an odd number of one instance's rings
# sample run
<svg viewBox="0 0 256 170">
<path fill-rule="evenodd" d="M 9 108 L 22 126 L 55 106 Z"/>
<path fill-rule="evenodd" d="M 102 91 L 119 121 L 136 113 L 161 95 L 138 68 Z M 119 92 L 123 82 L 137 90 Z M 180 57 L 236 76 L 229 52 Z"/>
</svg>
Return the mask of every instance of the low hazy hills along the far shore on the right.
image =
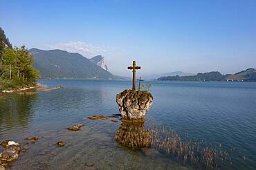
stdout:
<svg viewBox="0 0 256 170">
<path fill-rule="evenodd" d="M 170 80 L 170 81 L 232 81 L 232 82 L 256 82 L 256 69 L 248 68 L 242 70 L 234 75 L 222 75 L 218 71 L 209 73 L 198 73 L 197 75 L 190 76 L 164 76 L 157 80 Z"/>
</svg>

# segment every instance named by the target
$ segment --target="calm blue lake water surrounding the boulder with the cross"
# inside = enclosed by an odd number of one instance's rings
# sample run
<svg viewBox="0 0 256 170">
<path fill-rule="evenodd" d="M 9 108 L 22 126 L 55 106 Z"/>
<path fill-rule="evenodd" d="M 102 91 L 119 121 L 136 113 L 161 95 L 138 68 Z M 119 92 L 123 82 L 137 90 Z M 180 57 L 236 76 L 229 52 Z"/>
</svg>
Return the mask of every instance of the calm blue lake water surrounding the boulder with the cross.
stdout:
<svg viewBox="0 0 256 170">
<path fill-rule="evenodd" d="M 0 140 L 14 140 L 27 149 L 10 169 L 212 168 L 203 162 L 184 161 L 154 144 L 129 149 L 116 142 L 118 129 L 129 134 L 147 129 L 172 131 L 183 144 L 194 141 L 228 155 L 227 160 L 215 162 L 217 169 L 256 169 L 255 82 L 150 82 L 154 102 L 145 123 L 134 132 L 122 126 L 118 117 L 84 119 L 119 113 L 116 94 L 131 88 L 131 82 L 39 82 L 64 88 L 0 96 Z M 82 131 L 66 130 L 75 124 L 86 126 Z M 26 144 L 24 138 L 35 135 L 39 140 Z M 58 141 L 66 145 L 57 147 Z"/>
</svg>

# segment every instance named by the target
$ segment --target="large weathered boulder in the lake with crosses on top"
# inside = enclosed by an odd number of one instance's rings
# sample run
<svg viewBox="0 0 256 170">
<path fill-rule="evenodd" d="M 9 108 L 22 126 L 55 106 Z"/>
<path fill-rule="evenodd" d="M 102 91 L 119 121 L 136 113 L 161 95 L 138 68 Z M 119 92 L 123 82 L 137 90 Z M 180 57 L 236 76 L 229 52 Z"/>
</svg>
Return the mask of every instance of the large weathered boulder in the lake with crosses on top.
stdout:
<svg viewBox="0 0 256 170">
<path fill-rule="evenodd" d="M 122 120 L 143 122 L 144 116 L 153 102 L 153 96 L 147 91 L 126 89 L 116 95 L 116 102 L 122 115 Z"/>
</svg>

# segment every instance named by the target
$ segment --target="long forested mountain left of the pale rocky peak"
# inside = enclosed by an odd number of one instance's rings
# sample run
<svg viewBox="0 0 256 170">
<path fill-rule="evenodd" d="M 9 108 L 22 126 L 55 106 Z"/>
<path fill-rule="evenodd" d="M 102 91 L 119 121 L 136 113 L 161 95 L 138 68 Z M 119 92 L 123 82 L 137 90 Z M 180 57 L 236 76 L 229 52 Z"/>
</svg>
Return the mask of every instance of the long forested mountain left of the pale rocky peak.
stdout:
<svg viewBox="0 0 256 170">
<path fill-rule="evenodd" d="M 44 79 L 121 79 L 78 53 L 37 48 L 29 52 L 34 55 L 34 67 Z"/>
</svg>

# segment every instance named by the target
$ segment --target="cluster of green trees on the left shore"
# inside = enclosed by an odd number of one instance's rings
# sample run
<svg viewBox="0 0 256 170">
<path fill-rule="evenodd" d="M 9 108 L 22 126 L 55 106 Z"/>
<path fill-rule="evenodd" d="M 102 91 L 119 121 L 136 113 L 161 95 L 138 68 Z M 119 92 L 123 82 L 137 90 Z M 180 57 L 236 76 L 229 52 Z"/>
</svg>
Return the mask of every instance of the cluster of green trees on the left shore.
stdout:
<svg viewBox="0 0 256 170">
<path fill-rule="evenodd" d="M 12 48 L 1 28 L 0 34 L 0 90 L 35 85 L 39 73 L 33 68 L 33 55 L 26 46 Z"/>
</svg>

